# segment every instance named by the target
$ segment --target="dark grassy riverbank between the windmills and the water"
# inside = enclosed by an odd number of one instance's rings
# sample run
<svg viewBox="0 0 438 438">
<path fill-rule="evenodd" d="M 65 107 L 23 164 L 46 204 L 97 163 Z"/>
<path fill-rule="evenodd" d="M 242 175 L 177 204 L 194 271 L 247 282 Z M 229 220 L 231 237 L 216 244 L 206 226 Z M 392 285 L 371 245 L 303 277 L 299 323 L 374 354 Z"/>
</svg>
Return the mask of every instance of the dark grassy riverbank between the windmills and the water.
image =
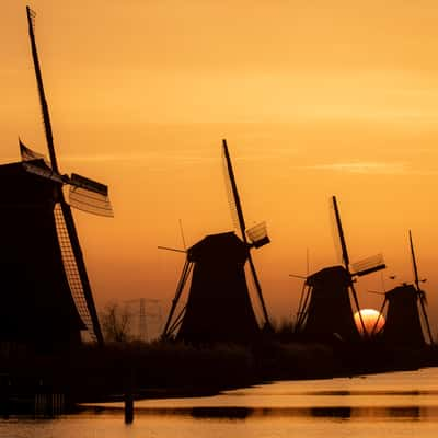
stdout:
<svg viewBox="0 0 438 438">
<path fill-rule="evenodd" d="M 275 380 L 331 379 L 437 365 L 435 347 L 390 348 L 366 342 L 346 345 L 268 339 L 249 346 L 203 348 L 170 342 L 82 346 L 58 355 L 26 353 L 3 358 L 0 412 L 32 410 L 35 400 L 46 400 L 50 394 L 58 394 L 62 408 L 70 411 L 78 403 L 119 401 L 126 395 L 212 395 Z"/>
</svg>

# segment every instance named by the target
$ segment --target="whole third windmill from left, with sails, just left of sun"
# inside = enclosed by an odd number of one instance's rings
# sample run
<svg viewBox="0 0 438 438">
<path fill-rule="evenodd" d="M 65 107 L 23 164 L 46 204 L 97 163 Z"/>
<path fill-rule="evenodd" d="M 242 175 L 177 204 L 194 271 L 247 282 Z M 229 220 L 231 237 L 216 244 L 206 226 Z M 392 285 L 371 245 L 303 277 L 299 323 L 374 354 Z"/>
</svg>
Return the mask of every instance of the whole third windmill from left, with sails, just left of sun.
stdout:
<svg viewBox="0 0 438 438">
<path fill-rule="evenodd" d="M 356 277 L 383 269 L 385 265 L 380 254 L 350 264 L 335 196 L 332 201 L 344 266 L 326 267 L 306 278 L 299 302 L 296 332 L 310 339 L 328 341 L 335 336 L 344 341 L 357 341 L 359 331 L 354 321 L 349 291 L 359 311 L 359 301 L 354 286 Z M 366 333 L 361 316 L 360 324 Z"/>
</svg>

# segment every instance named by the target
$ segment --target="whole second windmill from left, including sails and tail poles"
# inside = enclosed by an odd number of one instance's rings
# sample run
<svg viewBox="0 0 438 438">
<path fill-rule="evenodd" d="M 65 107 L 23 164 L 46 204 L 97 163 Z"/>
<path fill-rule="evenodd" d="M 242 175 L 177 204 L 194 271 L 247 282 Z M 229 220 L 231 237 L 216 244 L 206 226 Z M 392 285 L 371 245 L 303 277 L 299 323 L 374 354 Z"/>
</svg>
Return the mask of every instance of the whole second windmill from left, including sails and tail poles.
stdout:
<svg viewBox="0 0 438 438">
<path fill-rule="evenodd" d="M 246 261 L 262 308 L 263 324 L 269 327 L 262 288 L 250 251 L 252 247 L 257 249 L 269 243 L 269 239 L 265 223 L 246 229 L 226 140 L 223 159 L 230 204 L 235 214 L 241 239 L 234 232 L 210 234 L 186 250 L 186 261 L 165 322 L 163 337 L 175 335 L 176 339 L 191 343 L 254 339 L 260 333 L 260 327 L 246 285 Z M 176 313 L 191 273 L 193 274 L 187 301 Z"/>
</svg>

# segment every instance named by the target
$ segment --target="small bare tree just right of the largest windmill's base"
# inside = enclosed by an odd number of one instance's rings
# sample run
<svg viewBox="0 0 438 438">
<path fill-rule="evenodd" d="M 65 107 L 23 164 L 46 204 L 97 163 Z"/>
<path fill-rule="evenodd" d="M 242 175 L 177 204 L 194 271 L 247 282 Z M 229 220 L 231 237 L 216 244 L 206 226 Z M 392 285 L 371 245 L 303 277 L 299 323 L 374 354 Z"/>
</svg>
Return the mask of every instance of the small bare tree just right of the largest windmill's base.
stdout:
<svg viewBox="0 0 438 438">
<path fill-rule="evenodd" d="M 128 309 L 110 302 L 101 313 L 104 337 L 110 342 L 127 342 L 130 338 L 132 315 Z"/>
</svg>

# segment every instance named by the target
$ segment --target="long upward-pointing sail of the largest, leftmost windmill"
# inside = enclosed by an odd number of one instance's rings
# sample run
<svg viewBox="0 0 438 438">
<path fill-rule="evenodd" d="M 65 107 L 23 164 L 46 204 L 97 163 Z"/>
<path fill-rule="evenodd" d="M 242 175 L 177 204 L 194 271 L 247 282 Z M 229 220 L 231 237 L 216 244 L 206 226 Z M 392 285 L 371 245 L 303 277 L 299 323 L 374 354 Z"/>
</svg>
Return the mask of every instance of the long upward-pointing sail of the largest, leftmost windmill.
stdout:
<svg viewBox="0 0 438 438">
<path fill-rule="evenodd" d="M 27 23 L 28 23 L 28 36 L 31 38 L 32 58 L 34 61 L 35 77 L 36 77 L 36 83 L 38 87 L 39 103 L 41 103 L 42 113 L 43 113 L 44 129 L 46 131 L 46 140 L 47 140 L 48 152 L 50 155 L 51 169 L 55 172 L 59 173 L 58 162 L 56 160 L 56 154 L 55 154 L 55 145 L 54 145 L 54 136 L 53 136 L 53 131 L 51 131 L 50 115 L 48 112 L 48 105 L 47 105 L 46 95 L 44 92 L 43 76 L 41 72 L 39 60 L 38 60 L 38 51 L 36 50 L 35 33 L 34 33 L 35 12 L 32 11 L 32 9 L 30 7 L 26 7 L 26 13 L 27 13 Z"/>
</svg>

